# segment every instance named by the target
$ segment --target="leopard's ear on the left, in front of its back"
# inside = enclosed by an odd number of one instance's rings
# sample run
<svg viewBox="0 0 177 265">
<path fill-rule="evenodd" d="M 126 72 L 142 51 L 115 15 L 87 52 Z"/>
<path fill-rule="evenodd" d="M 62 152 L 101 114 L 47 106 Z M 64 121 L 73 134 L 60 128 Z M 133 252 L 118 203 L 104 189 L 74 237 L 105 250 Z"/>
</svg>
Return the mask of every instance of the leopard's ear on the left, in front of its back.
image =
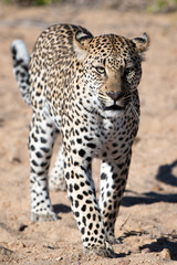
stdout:
<svg viewBox="0 0 177 265">
<path fill-rule="evenodd" d="M 79 61 L 83 61 L 87 55 L 88 42 L 93 39 L 93 35 L 88 31 L 77 31 L 74 36 L 73 45 L 76 57 Z"/>
</svg>

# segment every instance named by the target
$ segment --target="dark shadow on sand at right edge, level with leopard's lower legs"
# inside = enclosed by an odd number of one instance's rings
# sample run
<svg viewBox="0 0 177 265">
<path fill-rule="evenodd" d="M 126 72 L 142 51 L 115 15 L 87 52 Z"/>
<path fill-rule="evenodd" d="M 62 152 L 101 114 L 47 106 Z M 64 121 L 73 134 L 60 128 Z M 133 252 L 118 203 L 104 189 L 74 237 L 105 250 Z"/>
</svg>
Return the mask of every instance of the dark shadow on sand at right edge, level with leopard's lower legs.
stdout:
<svg viewBox="0 0 177 265">
<path fill-rule="evenodd" d="M 170 165 L 163 165 L 158 168 L 158 172 L 155 178 L 158 181 L 162 181 L 168 186 L 177 187 L 177 176 L 173 173 L 173 169 L 177 167 L 177 160 L 171 162 Z M 168 202 L 168 203 L 177 203 L 177 193 L 176 194 L 163 194 L 158 192 L 145 192 L 140 195 L 126 195 L 126 192 L 132 192 L 129 190 L 125 191 L 125 197 L 122 200 L 123 206 L 133 206 L 136 204 L 152 204 L 156 202 Z"/>
</svg>

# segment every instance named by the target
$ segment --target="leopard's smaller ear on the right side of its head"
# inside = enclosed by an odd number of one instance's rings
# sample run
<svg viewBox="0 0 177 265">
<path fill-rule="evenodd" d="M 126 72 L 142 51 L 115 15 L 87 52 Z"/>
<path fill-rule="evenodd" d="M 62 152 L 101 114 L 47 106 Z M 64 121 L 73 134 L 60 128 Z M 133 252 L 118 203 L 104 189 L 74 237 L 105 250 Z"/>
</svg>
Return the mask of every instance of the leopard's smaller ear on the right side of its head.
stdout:
<svg viewBox="0 0 177 265">
<path fill-rule="evenodd" d="M 133 39 L 133 42 L 135 43 L 138 53 L 144 53 L 149 47 L 150 38 L 147 33 L 143 33 L 143 35 Z"/>
</svg>

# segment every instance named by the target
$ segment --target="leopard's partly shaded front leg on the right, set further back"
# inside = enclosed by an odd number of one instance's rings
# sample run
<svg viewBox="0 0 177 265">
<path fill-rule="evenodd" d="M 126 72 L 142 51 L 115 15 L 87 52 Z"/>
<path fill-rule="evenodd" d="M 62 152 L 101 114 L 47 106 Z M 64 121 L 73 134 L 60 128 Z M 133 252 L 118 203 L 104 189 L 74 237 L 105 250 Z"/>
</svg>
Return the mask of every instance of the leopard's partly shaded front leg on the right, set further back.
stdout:
<svg viewBox="0 0 177 265">
<path fill-rule="evenodd" d="M 131 152 L 123 159 L 102 161 L 100 206 L 111 244 L 119 243 L 114 236 L 114 226 L 126 187 L 129 163 Z"/>
</svg>

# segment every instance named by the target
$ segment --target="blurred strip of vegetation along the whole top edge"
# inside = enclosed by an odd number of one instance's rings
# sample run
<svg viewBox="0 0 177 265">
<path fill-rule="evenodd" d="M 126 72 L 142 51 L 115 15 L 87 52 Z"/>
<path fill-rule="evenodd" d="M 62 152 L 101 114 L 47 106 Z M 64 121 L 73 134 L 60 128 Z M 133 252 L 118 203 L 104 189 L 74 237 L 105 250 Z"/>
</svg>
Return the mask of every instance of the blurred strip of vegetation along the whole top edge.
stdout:
<svg viewBox="0 0 177 265">
<path fill-rule="evenodd" d="M 72 3 L 85 7 L 106 7 L 121 11 L 146 10 L 148 12 L 177 11 L 177 0 L 3 0 L 4 3 L 25 6 L 46 6 L 52 3 Z"/>
</svg>

